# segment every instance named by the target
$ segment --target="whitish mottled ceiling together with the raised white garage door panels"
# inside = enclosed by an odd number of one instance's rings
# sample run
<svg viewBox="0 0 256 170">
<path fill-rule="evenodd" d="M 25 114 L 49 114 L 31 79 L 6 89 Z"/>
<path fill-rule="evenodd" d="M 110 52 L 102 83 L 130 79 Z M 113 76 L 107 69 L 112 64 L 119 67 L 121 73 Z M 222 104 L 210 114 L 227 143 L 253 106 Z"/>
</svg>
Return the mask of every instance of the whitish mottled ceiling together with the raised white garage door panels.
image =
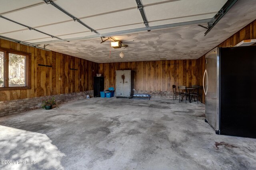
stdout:
<svg viewBox="0 0 256 170">
<path fill-rule="evenodd" d="M 135 0 L 54 2 L 100 34 L 145 27 Z M 142 0 L 149 26 L 210 19 L 226 2 L 227 0 Z M 96 63 L 154 61 L 161 58 L 197 59 L 256 19 L 256 1 L 238 0 L 206 36 L 206 29 L 198 25 L 144 31 L 112 36 L 128 45 L 126 49 L 113 49 L 110 48 L 110 41 L 100 44 L 100 38 L 86 39 L 97 34 L 42 0 L 0 0 L 0 4 L 0 15 L 5 18 L 61 39 L 80 37 L 84 40 L 56 43 L 55 40 L 59 41 L 56 38 L 3 18 L 0 18 L 1 36 L 27 43 L 39 42 L 42 44 L 40 47 L 50 43 L 47 49 Z M 111 57 L 108 58 L 110 50 Z M 123 59 L 119 57 L 122 50 L 125 53 Z"/>
</svg>

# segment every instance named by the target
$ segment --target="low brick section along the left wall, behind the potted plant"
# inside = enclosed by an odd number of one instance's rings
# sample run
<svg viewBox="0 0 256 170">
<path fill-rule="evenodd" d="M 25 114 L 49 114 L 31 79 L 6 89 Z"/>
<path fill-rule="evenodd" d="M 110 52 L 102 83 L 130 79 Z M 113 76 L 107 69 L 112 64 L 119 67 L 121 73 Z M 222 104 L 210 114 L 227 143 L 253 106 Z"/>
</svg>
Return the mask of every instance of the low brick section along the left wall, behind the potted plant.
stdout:
<svg viewBox="0 0 256 170">
<path fill-rule="evenodd" d="M 92 97 L 93 90 L 53 96 L 55 97 L 57 104 L 62 104 L 74 100 L 85 99 L 87 94 L 89 94 L 90 97 Z M 0 116 L 12 115 L 23 111 L 38 109 L 42 107 L 42 101 L 45 100 L 47 97 L 48 96 L 43 96 L 37 98 L 26 98 L 0 102 Z"/>
</svg>

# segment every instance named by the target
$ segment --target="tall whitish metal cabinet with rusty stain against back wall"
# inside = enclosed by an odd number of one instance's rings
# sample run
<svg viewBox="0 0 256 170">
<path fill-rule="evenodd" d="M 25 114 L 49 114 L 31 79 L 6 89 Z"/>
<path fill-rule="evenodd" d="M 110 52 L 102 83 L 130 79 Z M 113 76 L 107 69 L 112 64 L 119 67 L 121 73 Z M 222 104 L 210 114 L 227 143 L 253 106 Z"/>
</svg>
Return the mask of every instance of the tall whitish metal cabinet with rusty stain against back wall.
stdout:
<svg viewBox="0 0 256 170">
<path fill-rule="evenodd" d="M 132 70 L 116 70 L 116 98 L 131 98 L 133 96 Z"/>
</svg>

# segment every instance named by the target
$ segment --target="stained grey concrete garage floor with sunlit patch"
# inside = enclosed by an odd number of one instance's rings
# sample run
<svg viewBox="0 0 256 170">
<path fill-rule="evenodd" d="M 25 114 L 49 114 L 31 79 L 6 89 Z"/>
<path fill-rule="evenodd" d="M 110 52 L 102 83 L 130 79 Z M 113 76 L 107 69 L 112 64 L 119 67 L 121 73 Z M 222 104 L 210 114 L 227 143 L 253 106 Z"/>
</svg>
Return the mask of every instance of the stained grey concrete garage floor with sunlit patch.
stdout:
<svg viewBox="0 0 256 170">
<path fill-rule="evenodd" d="M 6 170 L 255 170 L 256 139 L 216 135 L 196 102 L 90 98 L 0 117 L 0 160 L 15 161 Z"/>
</svg>

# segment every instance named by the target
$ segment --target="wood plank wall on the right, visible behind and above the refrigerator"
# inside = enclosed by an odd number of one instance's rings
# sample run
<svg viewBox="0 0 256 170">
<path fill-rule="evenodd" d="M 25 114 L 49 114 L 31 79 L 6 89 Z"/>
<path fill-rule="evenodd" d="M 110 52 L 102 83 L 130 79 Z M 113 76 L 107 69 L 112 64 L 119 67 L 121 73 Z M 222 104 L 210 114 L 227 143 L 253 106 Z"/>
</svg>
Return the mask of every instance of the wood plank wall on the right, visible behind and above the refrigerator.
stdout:
<svg viewBox="0 0 256 170">
<path fill-rule="evenodd" d="M 217 47 L 233 47 L 246 39 L 256 39 L 256 20 L 252 21 L 240 31 L 226 39 Z M 198 59 L 198 83 L 200 86 L 203 85 L 203 76 L 205 70 L 205 55 Z M 203 102 L 205 101 L 205 95 L 203 93 Z"/>
</svg>

